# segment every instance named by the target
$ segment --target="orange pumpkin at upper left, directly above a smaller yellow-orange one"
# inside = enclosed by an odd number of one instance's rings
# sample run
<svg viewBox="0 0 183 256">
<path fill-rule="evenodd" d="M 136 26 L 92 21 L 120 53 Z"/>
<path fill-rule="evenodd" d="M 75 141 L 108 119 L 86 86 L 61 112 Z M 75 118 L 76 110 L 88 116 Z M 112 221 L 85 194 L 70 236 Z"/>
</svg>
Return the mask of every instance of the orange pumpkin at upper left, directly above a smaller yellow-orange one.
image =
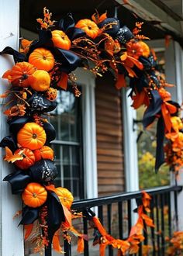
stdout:
<svg viewBox="0 0 183 256">
<path fill-rule="evenodd" d="M 29 55 L 29 63 L 33 64 L 38 69 L 50 71 L 54 67 L 54 55 L 50 50 L 44 48 L 36 48 Z"/>
</svg>

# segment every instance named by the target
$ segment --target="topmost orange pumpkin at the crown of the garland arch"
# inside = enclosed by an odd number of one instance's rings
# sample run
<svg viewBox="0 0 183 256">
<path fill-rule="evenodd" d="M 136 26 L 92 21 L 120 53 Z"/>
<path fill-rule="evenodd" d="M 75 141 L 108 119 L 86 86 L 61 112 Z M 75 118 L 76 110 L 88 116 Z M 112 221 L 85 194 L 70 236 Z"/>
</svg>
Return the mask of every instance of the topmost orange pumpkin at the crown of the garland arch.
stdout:
<svg viewBox="0 0 183 256">
<path fill-rule="evenodd" d="M 91 19 L 80 19 L 75 27 L 84 30 L 87 36 L 90 36 L 92 39 L 95 39 L 100 32 L 98 26 Z"/>
</svg>

